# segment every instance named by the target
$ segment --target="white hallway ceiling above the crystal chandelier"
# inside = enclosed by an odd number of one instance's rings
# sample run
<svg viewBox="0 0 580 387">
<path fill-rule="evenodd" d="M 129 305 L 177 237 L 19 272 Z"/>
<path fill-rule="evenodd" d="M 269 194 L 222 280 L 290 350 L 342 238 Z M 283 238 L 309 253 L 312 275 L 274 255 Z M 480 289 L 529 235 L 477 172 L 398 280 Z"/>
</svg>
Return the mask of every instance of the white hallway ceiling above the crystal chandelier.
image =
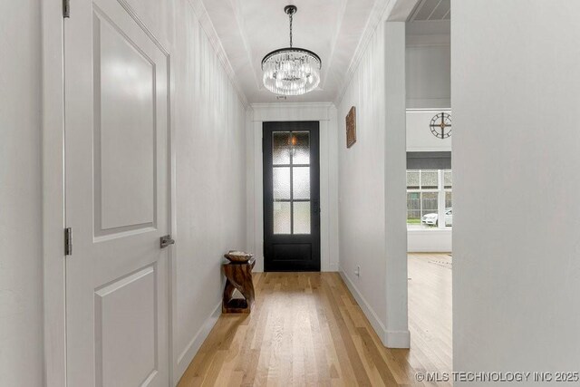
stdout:
<svg viewBox="0 0 580 387">
<path fill-rule="evenodd" d="M 288 102 L 333 102 L 389 0 L 198 0 L 196 12 L 233 82 L 250 103 L 276 102 L 262 85 L 266 53 L 288 46 L 285 5 L 296 5 L 294 45 L 317 53 L 320 87 Z"/>
</svg>

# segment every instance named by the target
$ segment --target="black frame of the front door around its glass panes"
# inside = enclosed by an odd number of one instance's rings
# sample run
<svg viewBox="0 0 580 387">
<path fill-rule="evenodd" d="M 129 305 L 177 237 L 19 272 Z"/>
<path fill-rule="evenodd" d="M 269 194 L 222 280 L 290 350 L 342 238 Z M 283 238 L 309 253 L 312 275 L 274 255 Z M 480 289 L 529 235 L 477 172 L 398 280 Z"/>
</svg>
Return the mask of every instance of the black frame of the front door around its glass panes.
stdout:
<svg viewBox="0 0 580 387">
<path fill-rule="evenodd" d="M 274 200 L 272 173 L 272 133 L 274 131 L 310 131 L 310 235 L 274 235 Z M 264 205 L 264 270 L 268 271 L 320 271 L 320 122 L 270 121 L 262 126 Z M 292 195 L 292 194 L 291 194 Z M 291 197 L 292 198 L 292 197 Z M 275 245 L 311 245 L 308 261 L 273 261 Z"/>
</svg>

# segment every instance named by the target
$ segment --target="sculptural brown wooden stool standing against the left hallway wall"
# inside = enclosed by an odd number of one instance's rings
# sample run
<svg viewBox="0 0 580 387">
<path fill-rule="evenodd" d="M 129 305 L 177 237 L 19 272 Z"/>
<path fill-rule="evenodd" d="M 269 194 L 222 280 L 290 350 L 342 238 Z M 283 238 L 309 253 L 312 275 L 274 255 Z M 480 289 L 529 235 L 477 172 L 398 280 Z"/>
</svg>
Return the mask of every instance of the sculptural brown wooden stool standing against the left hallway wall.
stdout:
<svg viewBox="0 0 580 387">
<path fill-rule="evenodd" d="M 251 258 L 247 263 L 239 264 L 229 262 L 224 264 L 226 275 L 226 287 L 221 305 L 222 313 L 250 313 L 254 305 L 254 283 L 252 282 L 252 269 L 256 265 L 256 259 Z M 232 298 L 234 290 L 238 290 L 245 298 Z"/>
</svg>

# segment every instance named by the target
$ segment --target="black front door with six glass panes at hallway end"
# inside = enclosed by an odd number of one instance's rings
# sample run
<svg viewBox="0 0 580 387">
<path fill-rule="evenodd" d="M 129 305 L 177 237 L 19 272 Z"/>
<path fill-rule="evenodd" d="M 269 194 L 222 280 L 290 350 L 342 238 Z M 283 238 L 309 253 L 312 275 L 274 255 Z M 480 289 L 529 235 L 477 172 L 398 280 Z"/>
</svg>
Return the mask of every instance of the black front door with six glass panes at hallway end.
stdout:
<svg viewBox="0 0 580 387">
<path fill-rule="evenodd" d="M 264 268 L 320 271 L 317 121 L 264 122 Z"/>
</svg>

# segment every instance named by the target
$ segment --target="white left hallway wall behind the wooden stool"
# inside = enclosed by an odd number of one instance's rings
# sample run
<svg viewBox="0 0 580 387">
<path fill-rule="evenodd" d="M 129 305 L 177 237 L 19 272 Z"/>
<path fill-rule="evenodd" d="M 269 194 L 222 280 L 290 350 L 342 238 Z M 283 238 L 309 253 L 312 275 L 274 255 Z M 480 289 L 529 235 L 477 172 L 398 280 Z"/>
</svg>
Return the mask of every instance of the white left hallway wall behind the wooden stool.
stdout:
<svg viewBox="0 0 580 387">
<path fill-rule="evenodd" d="M 193 8 L 174 15 L 179 377 L 221 312 L 224 253 L 246 249 L 246 110 Z"/>
</svg>

